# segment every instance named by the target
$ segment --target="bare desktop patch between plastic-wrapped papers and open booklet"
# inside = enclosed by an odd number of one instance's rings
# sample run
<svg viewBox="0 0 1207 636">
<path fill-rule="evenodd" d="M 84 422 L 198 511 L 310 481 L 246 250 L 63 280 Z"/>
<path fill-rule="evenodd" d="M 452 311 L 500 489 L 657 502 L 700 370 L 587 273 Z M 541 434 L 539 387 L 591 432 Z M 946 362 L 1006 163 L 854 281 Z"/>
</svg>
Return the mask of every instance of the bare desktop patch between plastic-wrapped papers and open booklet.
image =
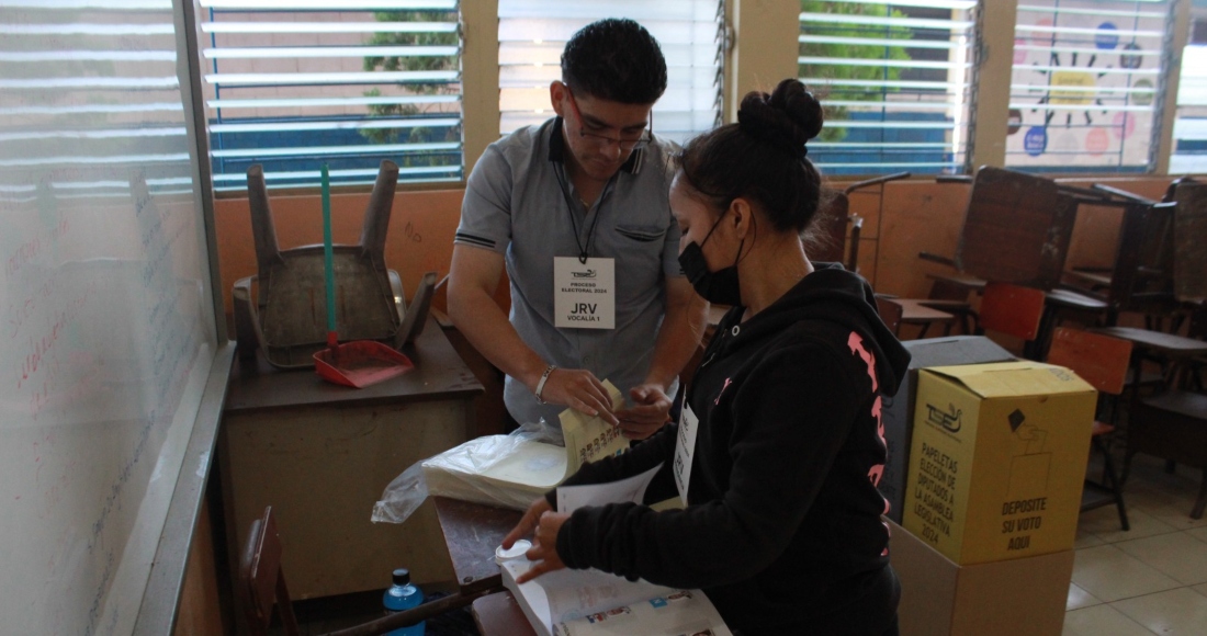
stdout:
<svg viewBox="0 0 1207 636">
<path fill-rule="evenodd" d="M 432 497 L 432 502 L 461 594 L 502 585 L 495 548 L 524 514 L 449 497 Z"/>
</svg>

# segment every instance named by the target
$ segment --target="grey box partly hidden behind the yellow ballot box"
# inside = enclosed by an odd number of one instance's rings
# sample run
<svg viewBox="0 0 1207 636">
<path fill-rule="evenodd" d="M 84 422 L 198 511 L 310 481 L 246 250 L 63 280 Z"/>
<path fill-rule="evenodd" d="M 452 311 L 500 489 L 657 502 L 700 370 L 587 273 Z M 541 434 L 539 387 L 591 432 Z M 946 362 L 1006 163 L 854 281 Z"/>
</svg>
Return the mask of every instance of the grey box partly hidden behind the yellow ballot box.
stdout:
<svg viewBox="0 0 1207 636">
<path fill-rule="evenodd" d="M 888 460 L 876 488 L 888 500 L 888 518 L 902 523 L 905 502 L 905 473 L 909 468 L 910 433 L 914 430 L 914 398 L 917 395 L 917 370 L 923 367 L 1007 362 L 1009 351 L 984 335 L 951 335 L 902 343 L 910 354 L 909 372 L 897 387 L 897 395 L 885 396 L 880 421 L 885 426 Z"/>
</svg>

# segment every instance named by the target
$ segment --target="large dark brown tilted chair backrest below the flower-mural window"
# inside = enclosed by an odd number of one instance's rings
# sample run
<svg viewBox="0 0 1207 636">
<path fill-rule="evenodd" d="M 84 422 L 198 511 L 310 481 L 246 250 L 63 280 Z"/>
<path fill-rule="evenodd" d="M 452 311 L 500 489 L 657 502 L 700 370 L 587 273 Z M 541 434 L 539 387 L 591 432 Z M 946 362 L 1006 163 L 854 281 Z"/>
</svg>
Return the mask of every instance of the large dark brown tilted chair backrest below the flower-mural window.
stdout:
<svg viewBox="0 0 1207 636">
<path fill-rule="evenodd" d="M 1042 176 L 982 167 L 973 179 L 956 268 L 1051 290 L 1065 270 L 1077 203 Z"/>
</svg>

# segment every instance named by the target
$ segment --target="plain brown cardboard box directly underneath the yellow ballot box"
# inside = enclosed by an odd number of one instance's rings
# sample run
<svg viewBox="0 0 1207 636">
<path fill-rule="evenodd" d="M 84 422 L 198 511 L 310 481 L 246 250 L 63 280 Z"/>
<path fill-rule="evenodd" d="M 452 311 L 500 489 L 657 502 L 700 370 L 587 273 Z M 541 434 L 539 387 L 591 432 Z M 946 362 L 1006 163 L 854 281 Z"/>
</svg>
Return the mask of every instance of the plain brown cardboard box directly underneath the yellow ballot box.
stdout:
<svg viewBox="0 0 1207 636">
<path fill-rule="evenodd" d="M 902 636 L 1060 636 L 1073 550 L 960 566 L 888 521 Z"/>
</svg>

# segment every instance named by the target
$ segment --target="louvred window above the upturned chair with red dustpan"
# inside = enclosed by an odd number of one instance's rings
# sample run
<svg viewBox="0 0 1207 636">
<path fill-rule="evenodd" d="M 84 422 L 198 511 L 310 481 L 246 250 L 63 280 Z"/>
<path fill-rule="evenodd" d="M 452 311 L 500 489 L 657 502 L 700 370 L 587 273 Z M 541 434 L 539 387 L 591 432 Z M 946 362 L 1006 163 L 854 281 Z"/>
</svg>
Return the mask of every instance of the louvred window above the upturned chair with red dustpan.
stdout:
<svg viewBox="0 0 1207 636">
<path fill-rule="evenodd" d="M 217 189 L 462 177 L 456 0 L 200 0 Z"/>
</svg>

